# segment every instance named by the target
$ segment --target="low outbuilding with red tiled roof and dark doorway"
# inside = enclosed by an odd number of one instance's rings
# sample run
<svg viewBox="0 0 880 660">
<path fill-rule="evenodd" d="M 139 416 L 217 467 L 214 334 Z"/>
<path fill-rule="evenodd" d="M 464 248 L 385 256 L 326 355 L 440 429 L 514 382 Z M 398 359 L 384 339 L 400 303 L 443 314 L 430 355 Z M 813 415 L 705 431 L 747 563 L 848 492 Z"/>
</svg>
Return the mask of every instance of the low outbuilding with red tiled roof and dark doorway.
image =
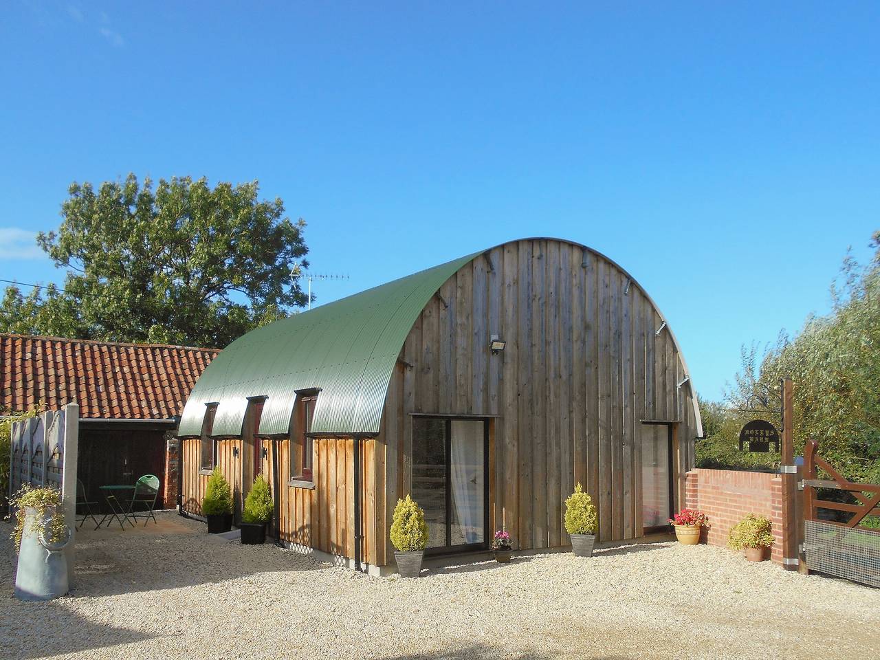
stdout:
<svg viewBox="0 0 880 660">
<path fill-rule="evenodd" d="M 144 473 L 177 498 L 176 440 L 184 403 L 217 348 L 0 334 L 0 414 L 76 402 L 79 469 L 90 497 Z M 169 441 L 171 453 L 168 451 Z"/>
</svg>

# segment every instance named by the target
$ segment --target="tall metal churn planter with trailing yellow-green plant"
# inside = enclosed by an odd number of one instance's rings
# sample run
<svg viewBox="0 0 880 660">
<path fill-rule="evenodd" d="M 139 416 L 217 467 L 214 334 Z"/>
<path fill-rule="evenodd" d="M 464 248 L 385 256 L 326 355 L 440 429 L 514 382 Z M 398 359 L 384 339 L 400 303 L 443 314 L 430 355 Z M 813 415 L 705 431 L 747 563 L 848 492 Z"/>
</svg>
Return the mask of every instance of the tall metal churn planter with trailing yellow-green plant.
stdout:
<svg viewBox="0 0 880 660">
<path fill-rule="evenodd" d="M 62 552 L 71 530 L 55 488 L 26 484 L 13 495 L 16 509 L 12 539 L 18 552 L 15 596 L 21 600 L 50 600 L 67 593 L 67 558 Z"/>
</svg>

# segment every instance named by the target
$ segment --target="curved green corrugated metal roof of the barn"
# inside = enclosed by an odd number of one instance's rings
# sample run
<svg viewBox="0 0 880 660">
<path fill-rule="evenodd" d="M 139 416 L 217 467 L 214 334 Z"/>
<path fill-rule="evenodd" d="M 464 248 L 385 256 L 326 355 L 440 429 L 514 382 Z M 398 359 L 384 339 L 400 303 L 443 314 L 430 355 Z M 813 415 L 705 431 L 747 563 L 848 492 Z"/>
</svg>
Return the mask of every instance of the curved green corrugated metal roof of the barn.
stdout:
<svg viewBox="0 0 880 660">
<path fill-rule="evenodd" d="M 260 434 L 286 435 L 296 391 L 319 387 L 312 431 L 379 431 L 385 391 L 400 348 L 430 298 L 480 253 L 408 275 L 253 330 L 202 372 L 180 418 L 180 436 L 202 432 L 217 402 L 212 435 L 238 436 L 247 398 L 268 397 Z"/>
</svg>

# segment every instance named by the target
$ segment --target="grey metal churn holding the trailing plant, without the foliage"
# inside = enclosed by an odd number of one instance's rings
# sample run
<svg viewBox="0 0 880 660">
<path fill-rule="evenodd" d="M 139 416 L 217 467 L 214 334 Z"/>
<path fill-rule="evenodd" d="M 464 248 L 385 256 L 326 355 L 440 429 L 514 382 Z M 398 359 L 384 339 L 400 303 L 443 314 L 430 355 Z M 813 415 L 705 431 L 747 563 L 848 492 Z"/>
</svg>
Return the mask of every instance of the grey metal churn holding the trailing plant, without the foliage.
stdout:
<svg viewBox="0 0 880 660">
<path fill-rule="evenodd" d="M 28 530 L 33 530 L 33 522 L 40 514 L 30 507 L 25 510 L 25 533 L 21 537 L 15 574 L 15 597 L 20 600 L 52 600 L 70 589 L 67 557 L 63 551 L 73 534 L 68 527 L 64 540 L 49 543 L 46 526 L 52 514 L 52 511 L 47 511 L 37 525 L 39 532 L 33 533 Z"/>
</svg>

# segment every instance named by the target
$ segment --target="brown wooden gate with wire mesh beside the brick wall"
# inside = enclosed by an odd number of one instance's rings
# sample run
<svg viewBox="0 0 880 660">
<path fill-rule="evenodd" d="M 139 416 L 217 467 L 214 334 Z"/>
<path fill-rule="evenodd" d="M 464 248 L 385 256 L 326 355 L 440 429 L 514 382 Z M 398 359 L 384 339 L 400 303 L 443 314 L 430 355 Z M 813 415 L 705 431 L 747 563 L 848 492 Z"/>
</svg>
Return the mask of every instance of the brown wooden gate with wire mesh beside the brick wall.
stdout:
<svg viewBox="0 0 880 660">
<path fill-rule="evenodd" d="M 818 479 L 818 469 L 831 479 Z M 801 485 L 807 569 L 880 587 L 880 529 L 863 524 L 867 516 L 880 516 L 880 484 L 847 480 L 818 455 L 818 443 L 810 440 L 803 451 Z M 819 488 L 849 493 L 854 502 L 820 499 Z"/>
</svg>

